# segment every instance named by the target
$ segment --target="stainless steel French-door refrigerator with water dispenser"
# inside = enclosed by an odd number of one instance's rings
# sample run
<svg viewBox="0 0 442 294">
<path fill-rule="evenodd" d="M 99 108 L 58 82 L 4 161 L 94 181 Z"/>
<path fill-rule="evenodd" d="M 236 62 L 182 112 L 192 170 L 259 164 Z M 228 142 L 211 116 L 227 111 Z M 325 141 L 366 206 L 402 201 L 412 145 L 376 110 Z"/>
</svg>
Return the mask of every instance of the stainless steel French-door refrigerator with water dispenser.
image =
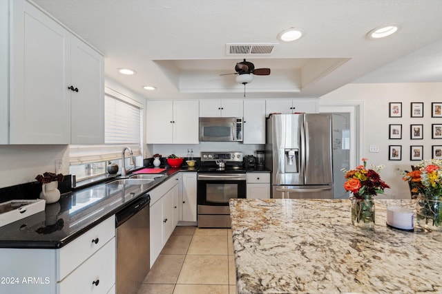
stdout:
<svg viewBox="0 0 442 294">
<path fill-rule="evenodd" d="M 273 114 L 266 166 L 272 198 L 332 199 L 332 114 Z"/>
</svg>

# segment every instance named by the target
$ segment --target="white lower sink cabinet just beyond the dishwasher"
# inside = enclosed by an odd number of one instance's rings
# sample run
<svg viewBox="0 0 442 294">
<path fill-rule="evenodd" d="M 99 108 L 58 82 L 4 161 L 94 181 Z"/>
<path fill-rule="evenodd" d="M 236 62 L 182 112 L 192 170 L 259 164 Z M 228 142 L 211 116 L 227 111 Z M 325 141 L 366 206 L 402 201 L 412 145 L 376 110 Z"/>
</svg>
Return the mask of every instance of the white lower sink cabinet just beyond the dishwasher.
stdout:
<svg viewBox="0 0 442 294">
<path fill-rule="evenodd" d="M 177 174 L 148 192 L 151 195 L 151 267 L 169 240 L 179 219 L 179 182 L 180 176 Z"/>
</svg>

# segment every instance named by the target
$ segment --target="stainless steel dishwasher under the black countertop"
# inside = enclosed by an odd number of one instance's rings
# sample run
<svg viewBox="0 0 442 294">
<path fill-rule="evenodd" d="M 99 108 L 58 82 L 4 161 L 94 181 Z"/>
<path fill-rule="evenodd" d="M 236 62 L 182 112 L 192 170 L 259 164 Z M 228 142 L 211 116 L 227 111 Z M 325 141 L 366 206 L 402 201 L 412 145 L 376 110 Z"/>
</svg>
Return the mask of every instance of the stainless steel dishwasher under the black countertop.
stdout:
<svg viewBox="0 0 442 294">
<path fill-rule="evenodd" d="M 150 269 L 150 202 L 146 193 L 115 216 L 117 294 L 137 293 Z"/>
</svg>

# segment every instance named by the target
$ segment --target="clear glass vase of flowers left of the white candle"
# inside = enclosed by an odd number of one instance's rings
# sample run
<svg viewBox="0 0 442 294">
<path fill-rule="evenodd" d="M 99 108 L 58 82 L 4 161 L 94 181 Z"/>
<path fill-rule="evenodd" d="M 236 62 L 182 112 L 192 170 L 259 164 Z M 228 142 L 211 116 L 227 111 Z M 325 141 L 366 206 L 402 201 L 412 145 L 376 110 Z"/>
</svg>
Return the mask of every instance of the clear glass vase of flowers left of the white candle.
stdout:
<svg viewBox="0 0 442 294">
<path fill-rule="evenodd" d="M 361 229 L 374 229 L 373 196 L 364 199 L 352 198 L 352 224 Z"/>
</svg>

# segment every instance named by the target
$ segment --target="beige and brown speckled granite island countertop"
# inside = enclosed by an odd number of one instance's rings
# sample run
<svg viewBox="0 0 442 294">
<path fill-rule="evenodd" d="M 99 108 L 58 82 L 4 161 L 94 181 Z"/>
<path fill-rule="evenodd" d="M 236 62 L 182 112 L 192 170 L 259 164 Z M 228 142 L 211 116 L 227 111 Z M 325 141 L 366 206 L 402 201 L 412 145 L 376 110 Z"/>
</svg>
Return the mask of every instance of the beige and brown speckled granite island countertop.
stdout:
<svg viewBox="0 0 442 294">
<path fill-rule="evenodd" d="M 237 290 L 243 293 L 442 293 L 442 235 L 352 225 L 350 200 L 231 199 Z"/>
</svg>

